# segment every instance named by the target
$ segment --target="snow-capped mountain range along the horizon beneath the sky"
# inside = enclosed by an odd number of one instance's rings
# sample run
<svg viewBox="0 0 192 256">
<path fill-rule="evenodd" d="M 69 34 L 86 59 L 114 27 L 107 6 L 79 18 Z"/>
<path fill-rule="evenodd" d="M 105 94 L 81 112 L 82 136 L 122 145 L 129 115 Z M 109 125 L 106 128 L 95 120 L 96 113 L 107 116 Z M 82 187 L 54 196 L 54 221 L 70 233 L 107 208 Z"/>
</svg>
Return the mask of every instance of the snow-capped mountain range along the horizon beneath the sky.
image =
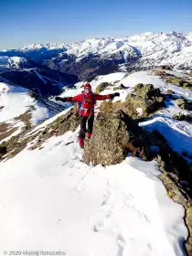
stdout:
<svg viewBox="0 0 192 256">
<path fill-rule="evenodd" d="M 112 71 L 151 69 L 169 65 L 191 69 L 192 33 L 144 33 L 124 38 L 92 38 L 73 43 L 27 45 L 0 56 L 34 59 L 80 80 Z"/>
</svg>

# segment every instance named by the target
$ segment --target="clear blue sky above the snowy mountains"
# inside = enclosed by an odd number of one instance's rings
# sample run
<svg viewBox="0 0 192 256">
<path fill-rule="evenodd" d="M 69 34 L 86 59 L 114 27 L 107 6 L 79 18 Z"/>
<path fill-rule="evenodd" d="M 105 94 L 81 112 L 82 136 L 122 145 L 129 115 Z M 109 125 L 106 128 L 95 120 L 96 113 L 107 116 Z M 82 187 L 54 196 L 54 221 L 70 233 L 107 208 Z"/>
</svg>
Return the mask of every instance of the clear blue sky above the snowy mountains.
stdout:
<svg viewBox="0 0 192 256">
<path fill-rule="evenodd" d="M 0 49 L 172 30 L 192 32 L 192 0 L 0 0 Z"/>
</svg>

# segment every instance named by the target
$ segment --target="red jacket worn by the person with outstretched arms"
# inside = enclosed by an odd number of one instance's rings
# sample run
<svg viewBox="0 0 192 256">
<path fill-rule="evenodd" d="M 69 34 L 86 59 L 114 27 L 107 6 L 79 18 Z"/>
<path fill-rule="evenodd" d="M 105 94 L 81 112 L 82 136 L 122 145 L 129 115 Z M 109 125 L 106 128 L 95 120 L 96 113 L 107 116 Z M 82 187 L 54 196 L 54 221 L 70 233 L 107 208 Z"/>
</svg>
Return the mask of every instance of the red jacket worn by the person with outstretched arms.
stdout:
<svg viewBox="0 0 192 256">
<path fill-rule="evenodd" d="M 84 93 L 84 102 L 82 104 L 82 107 L 84 110 L 80 110 L 80 115 L 83 116 L 89 116 L 89 115 L 94 115 L 94 105 L 96 101 L 103 101 L 103 100 L 108 100 L 111 99 L 111 95 L 99 95 L 99 94 L 92 94 L 91 93 Z M 93 101 L 92 101 L 93 100 Z M 67 97 L 66 101 L 78 101 L 82 102 L 83 101 L 83 93 L 76 95 L 74 97 Z"/>
</svg>

